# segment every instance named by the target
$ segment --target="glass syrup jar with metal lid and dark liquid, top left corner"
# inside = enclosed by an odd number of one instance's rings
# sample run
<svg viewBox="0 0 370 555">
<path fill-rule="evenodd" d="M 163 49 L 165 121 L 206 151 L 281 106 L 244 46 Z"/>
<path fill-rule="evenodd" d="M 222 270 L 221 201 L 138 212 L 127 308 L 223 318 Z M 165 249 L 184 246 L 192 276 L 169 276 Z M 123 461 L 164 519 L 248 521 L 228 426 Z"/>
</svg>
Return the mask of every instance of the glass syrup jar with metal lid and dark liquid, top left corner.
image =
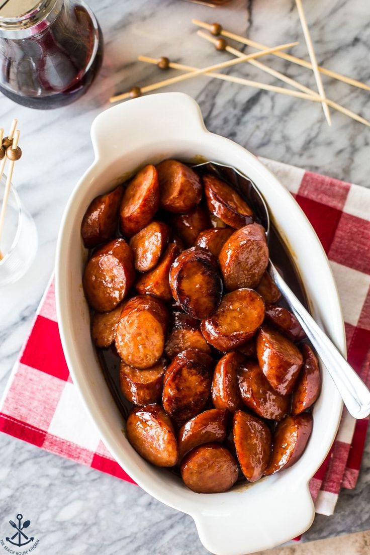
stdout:
<svg viewBox="0 0 370 555">
<path fill-rule="evenodd" d="M 80 98 L 103 57 L 97 19 L 82 0 L 0 0 L 0 91 L 29 108 Z"/>
</svg>

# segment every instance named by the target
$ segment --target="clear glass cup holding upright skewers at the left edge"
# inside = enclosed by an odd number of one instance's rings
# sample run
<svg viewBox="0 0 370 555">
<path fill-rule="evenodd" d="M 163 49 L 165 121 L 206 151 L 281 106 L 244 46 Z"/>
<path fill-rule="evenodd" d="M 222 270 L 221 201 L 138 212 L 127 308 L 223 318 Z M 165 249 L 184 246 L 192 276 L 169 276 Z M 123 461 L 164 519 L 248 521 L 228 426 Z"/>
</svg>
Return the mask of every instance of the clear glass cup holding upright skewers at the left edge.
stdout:
<svg viewBox="0 0 370 555">
<path fill-rule="evenodd" d="M 6 177 L 0 180 L 0 206 Z M 0 241 L 0 287 L 14 283 L 26 273 L 37 251 L 37 231 L 31 214 L 24 208 L 16 189 L 11 186 L 3 233 Z"/>
</svg>

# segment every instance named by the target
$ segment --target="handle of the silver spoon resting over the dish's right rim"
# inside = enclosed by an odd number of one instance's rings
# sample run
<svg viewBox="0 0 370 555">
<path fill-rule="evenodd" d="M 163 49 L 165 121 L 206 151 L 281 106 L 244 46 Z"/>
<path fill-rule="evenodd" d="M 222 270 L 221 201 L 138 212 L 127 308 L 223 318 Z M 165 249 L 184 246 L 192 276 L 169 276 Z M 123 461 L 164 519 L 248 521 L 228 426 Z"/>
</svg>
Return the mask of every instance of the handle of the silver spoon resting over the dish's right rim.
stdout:
<svg viewBox="0 0 370 555">
<path fill-rule="evenodd" d="M 312 346 L 315 348 L 317 355 L 331 375 L 348 412 L 354 418 L 365 418 L 370 414 L 370 391 L 325 332 L 316 324 L 311 314 L 297 299 L 271 261 L 269 270 L 272 279 L 285 297 L 292 312 L 296 315 Z"/>
</svg>

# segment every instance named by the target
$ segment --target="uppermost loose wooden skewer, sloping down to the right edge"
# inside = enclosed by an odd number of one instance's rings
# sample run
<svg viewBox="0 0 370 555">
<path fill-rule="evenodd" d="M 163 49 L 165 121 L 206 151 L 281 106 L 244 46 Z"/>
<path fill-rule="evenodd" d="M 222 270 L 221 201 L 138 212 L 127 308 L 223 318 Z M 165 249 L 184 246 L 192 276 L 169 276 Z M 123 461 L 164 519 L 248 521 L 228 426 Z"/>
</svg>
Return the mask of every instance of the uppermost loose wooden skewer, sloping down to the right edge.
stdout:
<svg viewBox="0 0 370 555">
<path fill-rule="evenodd" d="M 204 21 L 199 21 L 199 19 L 192 19 L 192 23 L 197 25 L 198 27 L 202 27 L 203 29 L 207 29 L 207 31 L 211 31 L 212 25 L 210 23 L 206 23 Z M 225 29 L 221 29 L 222 36 L 231 38 L 233 41 L 241 42 L 242 44 L 246 44 L 247 46 L 251 46 L 253 48 L 265 49 L 268 48 L 266 44 L 262 44 L 260 42 L 251 41 L 251 39 L 242 37 L 241 35 L 231 33 L 230 31 L 226 31 Z M 312 64 L 310 62 L 306 62 L 306 60 L 302 60 L 301 58 L 297 58 L 296 56 L 292 56 L 292 54 L 287 54 L 286 52 L 275 52 L 273 56 L 278 56 L 279 58 L 283 58 L 288 60 L 288 62 L 292 62 L 293 64 L 301 65 L 304 68 L 312 69 Z M 359 89 L 370 90 L 370 86 L 366 83 L 362 83 L 356 79 L 352 79 L 351 77 L 346 77 L 346 75 L 342 75 L 341 73 L 337 73 L 332 71 L 331 69 L 326 69 L 321 65 L 318 65 L 318 70 L 323 75 L 328 75 L 328 77 L 332 77 L 333 79 L 337 79 L 338 81 L 342 81 L 343 83 L 347 83 L 348 85 L 352 85 L 352 87 L 357 87 Z"/>
</svg>

